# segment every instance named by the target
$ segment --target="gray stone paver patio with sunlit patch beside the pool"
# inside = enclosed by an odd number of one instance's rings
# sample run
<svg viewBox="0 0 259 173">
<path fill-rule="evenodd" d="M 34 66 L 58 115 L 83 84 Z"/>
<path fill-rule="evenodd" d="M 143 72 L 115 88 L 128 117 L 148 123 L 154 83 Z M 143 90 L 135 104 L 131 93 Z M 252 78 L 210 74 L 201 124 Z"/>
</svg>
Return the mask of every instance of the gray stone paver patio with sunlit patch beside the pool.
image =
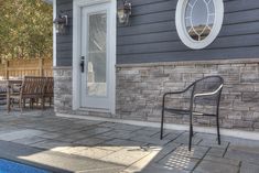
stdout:
<svg viewBox="0 0 259 173">
<path fill-rule="evenodd" d="M 258 173 L 259 141 L 0 109 L 0 158 L 52 172 Z"/>
</svg>

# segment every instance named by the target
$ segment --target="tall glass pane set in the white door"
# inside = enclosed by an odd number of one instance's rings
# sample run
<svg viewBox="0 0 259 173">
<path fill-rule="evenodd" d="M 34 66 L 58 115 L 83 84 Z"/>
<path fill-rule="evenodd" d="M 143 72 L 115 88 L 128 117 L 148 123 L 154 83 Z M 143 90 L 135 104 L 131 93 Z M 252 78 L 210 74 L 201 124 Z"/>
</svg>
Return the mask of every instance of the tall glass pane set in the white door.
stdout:
<svg viewBox="0 0 259 173">
<path fill-rule="evenodd" d="M 88 15 L 87 94 L 107 96 L 107 13 Z"/>
</svg>

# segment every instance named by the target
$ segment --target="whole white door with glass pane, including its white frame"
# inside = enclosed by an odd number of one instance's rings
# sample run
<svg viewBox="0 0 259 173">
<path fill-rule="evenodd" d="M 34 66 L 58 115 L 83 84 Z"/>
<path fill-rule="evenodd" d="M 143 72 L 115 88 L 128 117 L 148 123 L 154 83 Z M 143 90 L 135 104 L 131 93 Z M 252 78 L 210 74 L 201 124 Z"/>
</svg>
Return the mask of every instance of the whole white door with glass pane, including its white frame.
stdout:
<svg viewBox="0 0 259 173">
<path fill-rule="evenodd" d="M 73 110 L 115 113 L 116 0 L 73 0 Z"/>
</svg>

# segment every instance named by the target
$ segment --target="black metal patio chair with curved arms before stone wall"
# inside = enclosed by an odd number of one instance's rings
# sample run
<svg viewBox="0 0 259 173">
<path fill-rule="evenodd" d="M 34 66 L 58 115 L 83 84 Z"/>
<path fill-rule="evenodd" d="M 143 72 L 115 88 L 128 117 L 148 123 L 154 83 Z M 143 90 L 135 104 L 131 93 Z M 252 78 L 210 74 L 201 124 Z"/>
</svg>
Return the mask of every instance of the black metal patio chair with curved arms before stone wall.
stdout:
<svg viewBox="0 0 259 173">
<path fill-rule="evenodd" d="M 224 79 L 220 76 L 206 76 L 186 87 L 182 91 L 172 91 L 165 93 L 163 95 L 162 102 L 162 118 L 161 118 L 161 136 L 160 139 L 163 139 L 163 123 L 164 123 L 164 111 L 170 112 L 171 115 L 188 115 L 190 116 L 190 141 L 188 141 L 188 151 L 192 147 L 192 137 L 193 137 L 193 116 L 209 116 L 216 117 L 217 126 L 217 138 L 218 144 L 220 144 L 220 133 L 219 133 L 219 122 L 218 122 L 218 111 L 219 111 L 219 101 L 223 89 Z M 180 95 L 190 93 L 187 97 L 190 107 L 188 108 L 172 108 L 168 107 L 165 99 L 171 95 Z M 188 105 L 188 104 L 187 104 Z M 207 110 L 196 110 L 196 106 L 212 106 L 215 111 L 207 112 Z"/>
</svg>

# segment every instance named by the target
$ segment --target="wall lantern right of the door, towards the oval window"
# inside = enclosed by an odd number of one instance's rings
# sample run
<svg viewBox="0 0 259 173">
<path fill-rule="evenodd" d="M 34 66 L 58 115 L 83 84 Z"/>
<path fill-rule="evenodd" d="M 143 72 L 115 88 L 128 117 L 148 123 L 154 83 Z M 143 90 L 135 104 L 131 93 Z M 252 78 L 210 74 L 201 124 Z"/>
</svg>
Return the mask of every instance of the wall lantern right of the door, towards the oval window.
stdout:
<svg viewBox="0 0 259 173">
<path fill-rule="evenodd" d="M 119 19 L 119 23 L 128 24 L 129 17 L 131 15 L 131 3 L 127 0 L 123 0 L 122 6 L 118 8 L 117 15 Z"/>
</svg>

